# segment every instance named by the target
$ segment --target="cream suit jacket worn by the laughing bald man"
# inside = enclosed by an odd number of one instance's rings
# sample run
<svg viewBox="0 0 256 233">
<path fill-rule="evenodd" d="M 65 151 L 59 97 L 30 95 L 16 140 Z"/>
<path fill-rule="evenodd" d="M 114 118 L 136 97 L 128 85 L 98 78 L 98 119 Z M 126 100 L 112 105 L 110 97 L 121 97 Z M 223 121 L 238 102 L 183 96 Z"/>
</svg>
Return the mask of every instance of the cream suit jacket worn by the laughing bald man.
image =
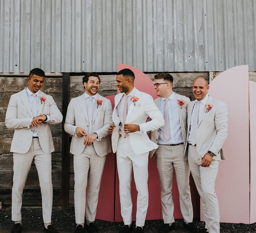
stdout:
<svg viewBox="0 0 256 233">
<path fill-rule="evenodd" d="M 195 101 L 188 104 L 188 131 L 189 134 L 190 119 Z M 228 135 L 228 109 L 224 102 L 208 97 L 207 104 L 212 105 L 212 109 L 205 111 L 198 116 L 198 125 L 196 130 L 196 149 L 197 153 L 203 157 L 208 150 L 216 156 L 215 160 L 225 159 L 222 146 Z M 185 148 L 187 148 L 187 144 Z"/>
</svg>

